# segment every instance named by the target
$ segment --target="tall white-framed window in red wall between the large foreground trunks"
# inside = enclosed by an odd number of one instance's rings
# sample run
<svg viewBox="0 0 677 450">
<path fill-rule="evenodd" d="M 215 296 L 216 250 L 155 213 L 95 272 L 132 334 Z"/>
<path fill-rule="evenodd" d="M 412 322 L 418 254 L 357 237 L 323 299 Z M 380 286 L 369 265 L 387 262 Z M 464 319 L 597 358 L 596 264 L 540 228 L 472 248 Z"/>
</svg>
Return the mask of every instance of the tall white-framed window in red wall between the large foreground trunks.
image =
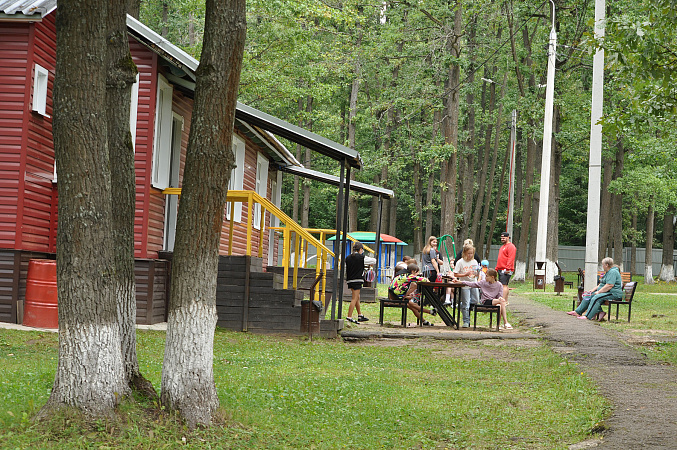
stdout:
<svg viewBox="0 0 677 450">
<path fill-rule="evenodd" d="M 155 136 L 153 139 L 153 168 L 151 186 L 158 189 L 169 187 L 169 170 L 172 151 L 172 94 L 173 88 L 165 77 L 158 75 L 157 101 L 155 104 Z"/>
</svg>

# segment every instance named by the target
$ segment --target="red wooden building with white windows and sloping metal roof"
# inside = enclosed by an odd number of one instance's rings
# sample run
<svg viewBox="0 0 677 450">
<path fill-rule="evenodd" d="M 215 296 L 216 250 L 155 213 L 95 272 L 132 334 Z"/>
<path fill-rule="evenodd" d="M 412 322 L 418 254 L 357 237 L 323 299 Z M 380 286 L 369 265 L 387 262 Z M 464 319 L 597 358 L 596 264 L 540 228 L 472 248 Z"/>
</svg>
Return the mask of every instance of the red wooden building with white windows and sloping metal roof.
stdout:
<svg viewBox="0 0 677 450">
<path fill-rule="evenodd" d="M 53 259 L 56 252 L 55 10 L 56 0 L 0 0 L 0 321 L 4 322 L 21 319 L 28 261 Z M 128 17 L 127 24 L 139 69 L 130 114 L 136 170 L 137 322 L 151 324 L 165 319 L 177 196 L 163 191 L 181 185 L 198 61 L 137 20 Z M 238 104 L 236 117 L 237 167 L 230 190 L 255 191 L 279 206 L 282 171 L 301 165 L 271 133 L 341 161 L 348 170 L 361 167 L 356 151 L 253 108 Z M 377 188 L 374 195 L 384 195 L 381 191 Z M 269 245 L 273 231 L 268 230 L 277 223 L 265 213 L 265 232 L 249 230 L 248 235 L 247 226 L 260 226 L 261 211 L 260 205 L 251 207 L 247 202 L 228 205 L 221 254 L 245 255 L 253 246 L 261 257 L 255 270 L 263 271 L 277 264 L 277 246 Z"/>
</svg>

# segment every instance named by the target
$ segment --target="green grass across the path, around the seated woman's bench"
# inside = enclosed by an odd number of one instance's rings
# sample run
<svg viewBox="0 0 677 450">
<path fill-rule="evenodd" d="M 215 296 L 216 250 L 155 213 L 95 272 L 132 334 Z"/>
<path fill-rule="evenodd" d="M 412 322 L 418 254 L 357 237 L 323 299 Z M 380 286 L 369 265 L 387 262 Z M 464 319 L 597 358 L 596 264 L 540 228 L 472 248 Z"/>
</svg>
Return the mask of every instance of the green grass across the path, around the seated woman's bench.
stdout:
<svg viewBox="0 0 677 450">
<path fill-rule="evenodd" d="M 566 280 L 574 281 L 574 273 L 565 273 Z M 645 336 L 642 351 L 653 359 L 677 365 L 677 283 L 657 282 L 644 284 L 644 278 L 635 276 L 637 290 L 632 300 L 632 315 L 628 323 L 628 308 L 622 306 L 616 320 L 616 308 L 612 306 L 610 321 L 601 322 L 601 326 L 628 336 Z M 560 311 L 571 311 L 572 300 L 577 295 L 576 289 L 565 288 L 562 295 L 553 292 L 553 286 L 546 287 L 545 292 L 534 290 L 531 283 L 511 283 L 518 295 L 529 298 Z M 508 309 L 510 309 L 508 307 Z M 608 311 L 607 307 L 604 311 Z M 609 319 L 609 317 L 607 317 Z"/>
</svg>

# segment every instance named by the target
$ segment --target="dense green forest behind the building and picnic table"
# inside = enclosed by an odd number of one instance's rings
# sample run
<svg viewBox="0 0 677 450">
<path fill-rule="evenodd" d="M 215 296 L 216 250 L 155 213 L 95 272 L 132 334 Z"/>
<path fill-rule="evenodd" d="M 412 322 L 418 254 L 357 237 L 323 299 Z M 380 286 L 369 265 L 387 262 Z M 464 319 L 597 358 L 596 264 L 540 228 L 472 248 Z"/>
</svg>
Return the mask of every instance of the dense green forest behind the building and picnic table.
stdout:
<svg viewBox="0 0 677 450">
<path fill-rule="evenodd" d="M 623 246 L 662 247 L 659 276 L 671 280 L 676 3 L 608 2 L 596 42 L 592 0 L 249 0 L 239 100 L 358 150 L 364 168 L 351 178 L 395 192 L 382 230 L 415 253 L 430 235 L 469 237 L 481 255 L 498 242 L 515 110 L 513 242 L 530 268 L 554 4 L 548 259 L 558 244 L 585 245 L 592 55 L 602 46 L 599 256 L 623 263 Z M 141 20 L 199 58 L 204 2 L 146 0 Z M 304 166 L 338 174 L 334 161 L 285 144 Z M 352 193 L 349 206 L 349 230 L 376 230 L 375 199 Z M 302 226 L 333 229 L 335 207 L 334 187 L 285 177 L 283 209 Z"/>
</svg>

